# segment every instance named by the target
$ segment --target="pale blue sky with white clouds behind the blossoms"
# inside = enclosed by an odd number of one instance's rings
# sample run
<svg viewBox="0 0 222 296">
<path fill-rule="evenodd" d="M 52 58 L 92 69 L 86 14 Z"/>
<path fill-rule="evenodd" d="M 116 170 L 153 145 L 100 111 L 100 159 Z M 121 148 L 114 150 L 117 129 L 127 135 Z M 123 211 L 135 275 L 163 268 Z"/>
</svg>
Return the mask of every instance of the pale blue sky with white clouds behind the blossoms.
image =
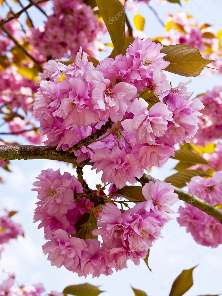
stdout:
<svg viewBox="0 0 222 296">
<path fill-rule="evenodd" d="M 158 5 L 156 2 L 158 0 L 152 0 L 153 7 L 163 20 L 167 19 L 168 13 L 173 14 L 177 10 L 183 10 L 194 15 L 200 24 L 212 24 L 213 32 L 222 28 L 221 0 L 189 0 L 186 4 L 185 0 L 182 0 L 182 8 L 178 4 Z M 23 3 L 28 4 L 28 1 Z M 13 5 L 14 10 L 17 11 L 17 6 Z M 50 10 L 50 8 L 48 9 Z M 128 11 L 131 23 L 133 15 L 138 12 L 146 19 L 144 30 L 147 36 L 164 36 L 164 29 L 144 4 L 138 5 L 138 11 Z M 0 15 L 4 15 L 4 9 L 0 11 Z M 34 8 L 30 9 L 30 15 L 35 26 L 44 21 L 41 13 Z M 24 19 L 24 16 L 21 19 Z M 101 59 L 107 55 L 107 53 L 103 53 Z M 169 74 L 168 78 L 173 82 L 173 86 L 185 80 L 184 77 L 173 74 Z M 206 77 L 202 75 L 192 78 L 188 89 L 194 91 L 195 95 L 212 89 L 215 85 L 221 86 L 221 76 Z M 22 138 L 20 139 L 22 141 Z M 173 174 L 173 166 L 174 161 L 169 160 L 163 168 L 153 169 L 152 176 L 163 180 L 166 176 Z M 42 282 L 47 292 L 51 290 L 61 292 L 67 285 L 88 282 L 93 285 L 101 285 L 101 289 L 107 291 L 101 294 L 103 296 L 132 296 L 130 284 L 137 289 L 144 290 L 149 296 L 166 296 L 169 294 L 173 280 L 182 269 L 198 264 L 194 270 L 194 286 L 185 295 L 222 293 L 222 247 L 212 249 L 198 245 L 184 228 L 179 227 L 176 215 L 163 230 L 163 238 L 159 239 L 151 248 L 149 265 L 152 268 L 152 273 L 144 262 L 141 262 L 139 266 L 134 266 L 129 262 L 128 269 L 118 273 L 114 272 L 112 276 L 84 279 L 78 278 L 76 274 L 65 268 L 50 266 L 50 262 L 42 254 L 41 249 L 41 245 L 45 243 L 43 231 L 38 230 L 37 225 L 32 222 L 33 210 L 37 201 L 36 193 L 31 191 L 32 183 L 43 169 L 53 168 L 56 170 L 60 168 L 62 172 L 68 171 L 73 174 L 75 174 L 75 169 L 66 163 L 52 160 L 15 160 L 11 162 L 10 168 L 12 173 L 0 170 L 0 176 L 4 179 L 4 183 L 0 184 L 0 209 L 7 207 L 9 210 L 19 212 L 14 216 L 14 220 L 22 223 L 25 238 L 21 237 L 5 246 L 0 260 L 0 282 L 5 279 L 1 271 L 7 269 L 16 273 L 19 284 L 28 285 Z M 100 175 L 96 175 L 89 167 L 85 168 L 84 173 L 91 188 L 99 183 Z M 175 210 L 180 204 L 182 202 L 178 201 Z"/>
</svg>

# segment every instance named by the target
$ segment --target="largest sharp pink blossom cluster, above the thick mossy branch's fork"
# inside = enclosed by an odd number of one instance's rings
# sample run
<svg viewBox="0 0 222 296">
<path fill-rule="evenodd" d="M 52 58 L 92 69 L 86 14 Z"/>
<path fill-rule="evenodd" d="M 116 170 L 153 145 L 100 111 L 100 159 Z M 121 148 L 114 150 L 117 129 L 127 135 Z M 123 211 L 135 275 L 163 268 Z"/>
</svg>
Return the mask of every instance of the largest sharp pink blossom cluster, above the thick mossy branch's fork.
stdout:
<svg viewBox="0 0 222 296">
<path fill-rule="evenodd" d="M 107 133 L 74 152 L 78 162 L 90 158 L 93 169 L 103 171 L 103 183 L 118 188 L 163 165 L 176 143 L 189 142 L 197 132 L 203 105 L 190 100 L 184 83 L 172 88 L 166 81 L 169 62 L 161 48 L 137 38 L 126 55 L 107 57 L 96 68 L 82 48 L 72 65 L 50 61 L 56 70 L 50 81 L 41 81 L 34 103 L 44 143 L 68 150 L 111 120 Z"/>
</svg>

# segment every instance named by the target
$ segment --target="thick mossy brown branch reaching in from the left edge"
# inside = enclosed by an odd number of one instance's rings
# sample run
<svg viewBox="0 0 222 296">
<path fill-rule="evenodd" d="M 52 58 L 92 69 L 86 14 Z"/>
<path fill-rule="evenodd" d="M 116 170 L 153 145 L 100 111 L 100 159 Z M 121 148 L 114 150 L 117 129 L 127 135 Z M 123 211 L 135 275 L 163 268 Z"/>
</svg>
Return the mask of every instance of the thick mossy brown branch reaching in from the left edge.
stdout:
<svg viewBox="0 0 222 296">
<path fill-rule="evenodd" d="M 0 146 L 0 160 L 15 159 L 52 159 L 72 163 L 83 167 L 89 164 L 89 160 L 78 163 L 74 154 L 67 151 L 57 151 L 54 147 L 34 145 L 5 145 Z"/>
</svg>

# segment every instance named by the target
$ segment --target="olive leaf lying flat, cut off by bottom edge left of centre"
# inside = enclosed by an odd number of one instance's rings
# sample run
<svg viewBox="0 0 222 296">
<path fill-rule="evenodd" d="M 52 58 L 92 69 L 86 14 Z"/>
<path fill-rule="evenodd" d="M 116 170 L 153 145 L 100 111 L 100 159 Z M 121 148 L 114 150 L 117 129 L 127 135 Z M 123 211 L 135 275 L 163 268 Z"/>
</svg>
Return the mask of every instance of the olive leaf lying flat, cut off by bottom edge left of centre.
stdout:
<svg viewBox="0 0 222 296">
<path fill-rule="evenodd" d="M 102 292 L 104 291 L 100 291 L 98 287 L 90 284 L 68 286 L 63 290 L 64 294 L 71 294 L 75 296 L 98 296 Z"/>
</svg>

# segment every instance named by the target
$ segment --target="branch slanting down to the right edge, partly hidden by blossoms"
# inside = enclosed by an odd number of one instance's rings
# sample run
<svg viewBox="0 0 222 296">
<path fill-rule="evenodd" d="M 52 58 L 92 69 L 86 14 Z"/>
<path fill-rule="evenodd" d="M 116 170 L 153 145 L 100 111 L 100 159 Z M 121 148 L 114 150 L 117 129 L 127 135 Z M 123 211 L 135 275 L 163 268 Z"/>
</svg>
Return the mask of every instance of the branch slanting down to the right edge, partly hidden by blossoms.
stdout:
<svg viewBox="0 0 222 296">
<path fill-rule="evenodd" d="M 153 178 L 152 176 L 144 174 L 143 177 L 140 179 L 136 178 L 137 181 L 140 182 L 142 186 L 144 186 L 149 181 L 156 182 L 157 180 Z M 200 199 L 199 197 L 186 192 L 180 188 L 174 187 L 174 192 L 178 194 L 178 198 L 180 200 L 183 200 L 190 205 L 193 205 L 194 207 L 197 207 L 198 209 L 202 210 L 206 214 L 212 216 L 213 218 L 217 219 L 222 224 L 222 212 L 217 210 L 215 207 L 210 205 L 208 202 L 205 202 L 204 200 Z"/>
</svg>

